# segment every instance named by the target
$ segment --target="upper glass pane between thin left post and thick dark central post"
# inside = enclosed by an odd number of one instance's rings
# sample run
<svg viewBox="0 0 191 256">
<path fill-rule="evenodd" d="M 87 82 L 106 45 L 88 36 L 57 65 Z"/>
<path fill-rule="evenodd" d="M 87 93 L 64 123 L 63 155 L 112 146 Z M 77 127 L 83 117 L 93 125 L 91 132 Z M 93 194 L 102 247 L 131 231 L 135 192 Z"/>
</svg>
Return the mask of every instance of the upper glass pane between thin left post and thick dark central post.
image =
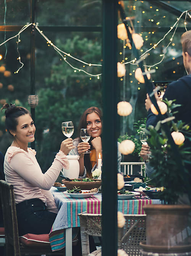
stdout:
<svg viewBox="0 0 191 256">
<path fill-rule="evenodd" d="M 37 22 L 49 26 L 100 26 L 102 1 L 38 0 Z"/>
</svg>

